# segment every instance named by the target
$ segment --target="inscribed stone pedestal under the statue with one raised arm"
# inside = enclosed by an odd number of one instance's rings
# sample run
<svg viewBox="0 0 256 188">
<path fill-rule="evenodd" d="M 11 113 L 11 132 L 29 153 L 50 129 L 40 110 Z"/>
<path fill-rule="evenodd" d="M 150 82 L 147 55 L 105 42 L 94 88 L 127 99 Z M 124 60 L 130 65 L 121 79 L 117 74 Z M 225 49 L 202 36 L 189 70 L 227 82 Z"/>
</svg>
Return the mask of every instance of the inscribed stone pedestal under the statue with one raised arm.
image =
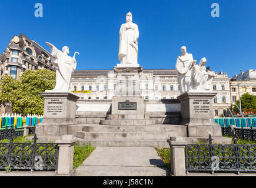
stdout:
<svg viewBox="0 0 256 188">
<path fill-rule="evenodd" d="M 44 119 L 36 126 L 38 136 L 62 136 L 68 134 L 68 125 L 77 124 L 75 111 L 79 96 L 72 92 L 41 93 L 45 99 Z"/>
</svg>

